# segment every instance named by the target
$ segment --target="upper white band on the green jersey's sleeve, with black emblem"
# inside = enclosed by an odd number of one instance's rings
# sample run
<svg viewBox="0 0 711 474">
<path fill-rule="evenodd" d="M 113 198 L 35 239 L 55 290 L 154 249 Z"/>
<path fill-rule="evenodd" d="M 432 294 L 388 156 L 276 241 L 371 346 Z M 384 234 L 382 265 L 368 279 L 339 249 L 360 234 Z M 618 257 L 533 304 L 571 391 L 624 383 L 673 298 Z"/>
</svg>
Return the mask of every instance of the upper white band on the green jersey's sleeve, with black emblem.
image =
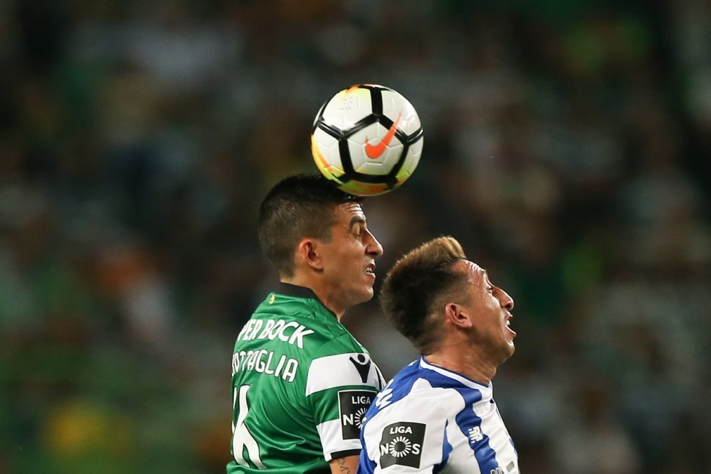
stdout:
<svg viewBox="0 0 711 474">
<path fill-rule="evenodd" d="M 365 378 L 365 380 L 363 380 Z M 370 385 L 383 388 L 383 375 L 370 360 L 370 355 L 359 352 L 328 355 L 311 362 L 306 377 L 306 397 L 333 387 Z"/>
</svg>

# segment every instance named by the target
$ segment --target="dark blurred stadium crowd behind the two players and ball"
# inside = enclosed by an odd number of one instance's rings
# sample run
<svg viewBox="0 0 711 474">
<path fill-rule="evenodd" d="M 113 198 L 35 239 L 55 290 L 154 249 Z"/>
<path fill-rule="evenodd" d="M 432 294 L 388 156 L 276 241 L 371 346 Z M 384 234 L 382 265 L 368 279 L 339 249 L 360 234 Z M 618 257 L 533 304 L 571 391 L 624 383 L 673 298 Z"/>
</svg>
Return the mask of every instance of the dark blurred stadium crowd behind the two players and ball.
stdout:
<svg viewBox="0 0 711 474">
<path fill-rule="evenodd" d="M 0 473 L 223 472 L 259 200 L 358 82 L 425 130 L 378 274 L 451 234 L 515 298 L 523 472 L 711 473 L 708 1 L 5 0 L 0 71 Z"/>
</svg>

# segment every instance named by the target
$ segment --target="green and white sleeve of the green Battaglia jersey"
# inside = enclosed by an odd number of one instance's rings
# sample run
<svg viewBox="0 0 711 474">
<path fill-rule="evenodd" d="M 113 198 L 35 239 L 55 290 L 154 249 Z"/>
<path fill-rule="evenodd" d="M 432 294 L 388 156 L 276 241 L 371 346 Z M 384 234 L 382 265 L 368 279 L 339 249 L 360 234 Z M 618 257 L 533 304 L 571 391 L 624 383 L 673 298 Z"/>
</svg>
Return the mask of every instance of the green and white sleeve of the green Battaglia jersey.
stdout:
<svg viewBox="0 0 711 474">
<path fill-rule="evenodd" d="M 311 361 L 306 379 L 306 401 L 326 461 L 360 453 L 363 416 L 383 387 L 383 376 L 370 355 L 357 352 L 355 345 L 346 345 L 348 352 L 330 349 Z"/>
</svg>

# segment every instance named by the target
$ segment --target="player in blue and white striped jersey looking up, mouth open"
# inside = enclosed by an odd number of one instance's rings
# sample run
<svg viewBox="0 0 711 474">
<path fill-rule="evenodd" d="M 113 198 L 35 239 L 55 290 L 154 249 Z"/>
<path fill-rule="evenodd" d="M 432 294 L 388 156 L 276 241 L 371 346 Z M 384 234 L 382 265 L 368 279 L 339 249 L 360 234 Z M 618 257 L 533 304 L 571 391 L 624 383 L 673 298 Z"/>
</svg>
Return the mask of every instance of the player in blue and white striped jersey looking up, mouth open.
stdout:
<svg viewBox="0 0 711 474">
<path fill-rule="evenodd" d="M 422 357 L 365 414 L 358 473 L 519 474 L 491 385 L 514 352 L 513 299 L 439 237 L 390 269 L 380 303 Z"/>
</svg>

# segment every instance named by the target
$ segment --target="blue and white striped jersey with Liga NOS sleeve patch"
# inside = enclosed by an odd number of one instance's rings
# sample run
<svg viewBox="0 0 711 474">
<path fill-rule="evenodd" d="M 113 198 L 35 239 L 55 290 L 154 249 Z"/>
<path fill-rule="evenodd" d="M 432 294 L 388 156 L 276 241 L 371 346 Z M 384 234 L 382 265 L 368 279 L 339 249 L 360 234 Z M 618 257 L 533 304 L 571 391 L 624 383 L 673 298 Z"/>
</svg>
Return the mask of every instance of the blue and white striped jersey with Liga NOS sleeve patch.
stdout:
<svg viewBox="0 0 711 474">
<path fill-rule="evenodd" d="M 491 390 L 424 357 L 415 360 L 365 414 L 358 473 L 519 474 Z"/>
</svg>

